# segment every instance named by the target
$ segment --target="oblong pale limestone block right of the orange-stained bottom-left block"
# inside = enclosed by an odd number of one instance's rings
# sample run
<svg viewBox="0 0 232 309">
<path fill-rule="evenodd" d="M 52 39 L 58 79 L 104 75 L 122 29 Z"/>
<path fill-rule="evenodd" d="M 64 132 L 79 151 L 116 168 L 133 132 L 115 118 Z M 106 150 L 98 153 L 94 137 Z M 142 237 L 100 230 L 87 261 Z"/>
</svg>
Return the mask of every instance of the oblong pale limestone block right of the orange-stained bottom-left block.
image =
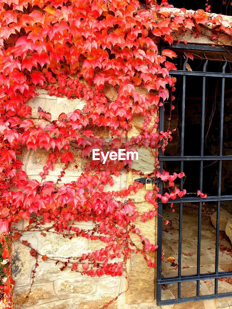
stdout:
<svg viewBox="0 0 232 309">
<path fill-rule="evenodd" d="M 60 299 L 67 299 L 71 297 L 86 298 L 87 294 L 93 294 L 97 291 L 97 279 L 82 276 L 77 279 L 57 280 L 54 282 L 54 290 Z M 102 292 L 101 292 L 102 293 Z M 100 293 L 99 293 L 100 294 Z"/>
</svg>

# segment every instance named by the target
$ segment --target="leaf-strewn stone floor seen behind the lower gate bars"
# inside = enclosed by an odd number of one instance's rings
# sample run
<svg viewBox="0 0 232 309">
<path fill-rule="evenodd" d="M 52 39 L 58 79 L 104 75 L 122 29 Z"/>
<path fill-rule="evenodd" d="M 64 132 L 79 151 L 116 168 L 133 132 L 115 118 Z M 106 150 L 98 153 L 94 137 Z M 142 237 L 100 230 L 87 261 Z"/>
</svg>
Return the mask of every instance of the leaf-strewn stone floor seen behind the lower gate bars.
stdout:
<svg viewBox="0 0 232 309">
<path fill-rule="evenodd" d="M 163 209 L 163 217 L 165 220 L 169 220 L 168 225 L 163 225 L 162 232 L 162 248 L 164 249 L 164 263 L 162 263 L 163 277 L 178 275 L 179 205 L 174 204 L 173 208 L 175 210 L 174 212 L 170 208 L 170 205 L 165 204 Z M 225 209 L 232 214 L 231 205 L 222 205 L 221 209 Z M 211 216 L 215 211 L 216 205 L 212 203 L 205 203 L 202 207 L 200 273 L 212 273 L 215 271 L 216 229 L 211 222 Z M 197 204 L 183 204 L 182 224 L 181 275 L 192 275 L 197 273 Z M 218 271 L 229 270 L 232 270 L 232 245 L 226 233 L 220 231 Z M 162 286 L 162 300 L 177 298 L 177 290 L 177 283 Z M 231 277 L 218 280 L 218 293 L 226 292 L 232 292 Z M 200 282 L 200 295 L 208 294 L 214 294 L 214 279 L 202 280 Z M 191 296 L 196 296 L 196 281 L 183 282 L 181 284 L 181 297 Z M 201 302 L 197 303 L 200 306 Z M 215 304 L 216 308 L 230 308 L 229 306 L 232 306 L 232 297 L 217 299 L 217 304 Z M 188 307 L 186 306 L 186 308 Z"/>
</svg>

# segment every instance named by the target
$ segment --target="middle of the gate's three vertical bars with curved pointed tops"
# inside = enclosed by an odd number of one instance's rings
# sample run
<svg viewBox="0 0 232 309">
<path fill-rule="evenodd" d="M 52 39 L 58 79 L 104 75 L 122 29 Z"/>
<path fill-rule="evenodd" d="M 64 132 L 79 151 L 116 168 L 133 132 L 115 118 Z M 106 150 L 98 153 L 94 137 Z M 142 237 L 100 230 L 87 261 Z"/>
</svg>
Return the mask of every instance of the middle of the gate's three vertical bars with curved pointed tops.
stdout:
<svg viewBox="0 0 232 309">
<path fill-rule="evenodd" d="M 205 57 L 205 54 L 204 54 Z M 206 57 L 205 57 L 206 58 Z M 208 60 L 206 59 L 203 72 L 206 71 Z M 201 143 L 200 143 L 200 156 L 204 155 L 204 114 L 205 114 L 205 79 L 203 77 L 202 83 L 202 105 L 201 105 Z M 200 161 L 200 192 L 202 192 L 202 182 L 203 182 L 203 160 Z M 197 276 L 200 276 L 200 244 L 201 244 L 201 212 L 202 212 L 202 202 L 199 203 L 198 210 L 198 235 L 197 235 Z M 200 280 L 197 281 L 196 284 L 196 296 L 199 298 L 200 296 Z"/>
</svg>

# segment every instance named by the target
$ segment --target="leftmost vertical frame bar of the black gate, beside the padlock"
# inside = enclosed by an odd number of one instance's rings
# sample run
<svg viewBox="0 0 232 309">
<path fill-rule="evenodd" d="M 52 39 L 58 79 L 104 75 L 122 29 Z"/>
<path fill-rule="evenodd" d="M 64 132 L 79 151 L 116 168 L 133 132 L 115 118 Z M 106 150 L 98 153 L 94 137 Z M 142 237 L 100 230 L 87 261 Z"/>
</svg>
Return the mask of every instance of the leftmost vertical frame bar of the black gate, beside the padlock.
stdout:
<svg viewBox="0 0 232 309">
<path fill-rule="evenodd" d="M 161 98 L 161 103 L 163 103 L 163 100 Z M 159 110 L 159 131 L 164 130 L 164 104 L 160 107 Z M 163 140 L 161 140 L 160 144 L 162 145 Z M 163 157 L 163 151 L 161 147 L 159 148 L 159 157 Z M 160 173 L 163 172 L 163 161 L 160 161 Z M 163 193 L 163 184 L 159 183 L 159 193 Z M 163 215 L 163 204 L 158 203 L 158 231 L 157 231 L 157 281 L 161 279 L 161 263 L 162 263 L 162 215 Z M 157 303 L 161 302 L 161 285 L 157 283 Z"/>
</svg>

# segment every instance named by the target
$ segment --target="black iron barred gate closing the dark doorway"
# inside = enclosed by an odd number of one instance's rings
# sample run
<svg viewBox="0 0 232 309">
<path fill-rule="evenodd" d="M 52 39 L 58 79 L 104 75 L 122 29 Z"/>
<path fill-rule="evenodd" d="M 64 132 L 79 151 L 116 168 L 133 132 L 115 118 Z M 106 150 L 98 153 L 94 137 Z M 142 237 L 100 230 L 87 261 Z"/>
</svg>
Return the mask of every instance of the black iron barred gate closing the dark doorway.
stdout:
<svg viewBox="0 0 232 309">
<path fill-rule="evenodd" d="M 165 48 L 161 46 L 161 51 Z M 203 46 L 203 45 L 193 45 L 193 44 L 176 44 L 170 47 L 171 49 L 183 49 L 183 51 L 188 50 L 198 50 L 198 51 L 210 51 L 210 52 L 221 52 L 226 54 L 226 50 L 221 47 Z M 230 49 L 231 50 L 231 49 Z M 178 275 L 175 277 L 162 277 L 162 208 L 163 204 L 161 200 L 158 200 L 158 235 L 157 235 L 157 305 L 170 305 L 176 303 L 185 303 L 198 300 L 206 300 L 213 298 L 222 298 L 232 296 L 232 292 L 218 293 L 218 278 L 230 277 L 232 276 L 232 271 L 218 271 L 218 258 L 219 258 L 219 218 L 220 218 L 220 205 L 221 201 L 232 200 L 232 195 L 221 196 L 221 173 L 222 173 L 222 161 L 232 160 L 232 156 L 222 155 L 223 146 L 223 113 L 224 113 L 224 94 L 225 94 L 225 78 L 232 78 L 232 74 L 226 73 L 227 60 L 223 54 L 224 65 L 221 72 L 207 72 L 208 59 L 205 59 L 203 70 L 199 71 L 188 71 L 186 70 L 186 64 L 188 57 L 183 63 L 182 70 L 171 70 L 171 76 L 182 76 L 183 77 L 183 88 L 182 88 L 182 119 L 181 119 L 181 133 L 180 133 L 180 156 L 164 156 L 161 148 L 159 149 L 159 162 L 160 162 L 160 172 L 163 171 L 163 162 L 165 161 L 178 161 L 180 163 L 180 170 L 183 171 L 184 161 L 197 160 L 200 162 L 200 191 L 202 192 L 202 177 L 203 177 L 203 162 L 205 160 L 218 160 L 218 188 L 217 196 L 210 196 L 206 198 L 201 197 L 183 197 L 176 198 L 175 200 L 169 199 L 168 203 L 179 203 L 179 234 L 178 234 Z M 203 78 L 202 83 L 202 107 L 201 107 L 201 139 L 200 139 L 200 156 L 185 156 L 184 155 L 184 123 L 185 123 L 185 88 L 186 88 L 186 76 L 201 76 Z M 220 100 L 220 141 L 219 141 L 219 155 L 217 156 L 204 156 L 204 114 L 205 114 L 205 83 L 207 77 L 215 77 L 221 80 L 221 100 Z M 164 131 L 164 110 L 165 103 L 160 107 L 159 111 L 159 130 Z M 162 141 L 161 141 L 162 144 Z M 159 183 L 160 193 L 163 193 L 163 184 Z M 180 190 L 183 190 L 183 178 L 180 180 Z M 217 220 L 216 220 L 216 252 L 215 252 L 215 271 L 213 273 L 200 273 L 200 247 L 201 247 L 201 215 L 202 215 L 202 203 L 207 201 L 214 201 L 217 203 Z M 199 202 L 198 210 L 198 240 L 197 240 L 197 272 L 194 275 L 182 275 L 181 274 L 181 259 L 182 259 L 182 217 L 183 217 L 183 203 L 186 202 Z M 201 280 L 214 279 L 214 294 L 200 295 L 200 281 Z M 186 281 L 196 281 L 196 296 L 193 297 L 181 297 L 181 283 Z M 178 285 L 178 297 L 175 299 L 161 300 L 161 289 L 162 285 L 169 283 L 177 283 Z"/>
</svg>

